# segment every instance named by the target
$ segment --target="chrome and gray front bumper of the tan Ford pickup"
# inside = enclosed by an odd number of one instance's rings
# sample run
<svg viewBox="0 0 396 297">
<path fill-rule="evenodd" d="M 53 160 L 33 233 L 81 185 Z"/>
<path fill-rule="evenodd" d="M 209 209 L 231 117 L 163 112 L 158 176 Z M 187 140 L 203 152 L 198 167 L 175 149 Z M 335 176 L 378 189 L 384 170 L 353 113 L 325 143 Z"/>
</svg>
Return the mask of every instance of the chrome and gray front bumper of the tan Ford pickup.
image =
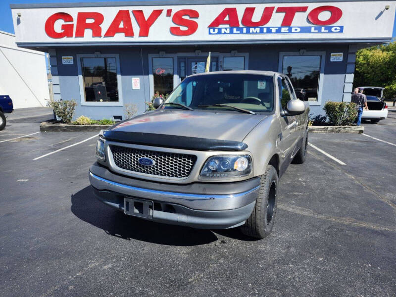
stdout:
<svg viewBox="0 0 396 297">
<path fill-rule="evenodd" d="M 116 176 L 109 173 L 111 176 Z M 124 177 L 120 176 L 120 179 Z M 235 194 L 191 194 L 152 190 L 99 177 L 91 171 L 94 194 L 103 203 L 124 211 L 124 198 L 153 201 L 153 221 L 195 228 L 225 229 L 242 225 L 250 216 L 259 187 Z M 219 185 L 221 187 L 221 185 Z M 204 187 L 202 192 L 204 192 Z"/>
</svg>

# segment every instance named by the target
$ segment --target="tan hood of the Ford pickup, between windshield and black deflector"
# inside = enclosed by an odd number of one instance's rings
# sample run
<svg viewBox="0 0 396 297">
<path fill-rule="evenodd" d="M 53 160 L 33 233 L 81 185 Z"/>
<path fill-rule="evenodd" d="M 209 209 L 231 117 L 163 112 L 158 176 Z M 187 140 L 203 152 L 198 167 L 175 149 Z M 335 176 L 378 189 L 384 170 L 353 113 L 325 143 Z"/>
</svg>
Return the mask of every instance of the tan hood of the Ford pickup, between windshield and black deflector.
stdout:
<svg viewBox="0 0 396 297">
<path fill-rule="evenodd" d="M 266 117 L 236 111 L 161 109 L 125 120 L 110 130 L 241 142 Z"/>
</svg>

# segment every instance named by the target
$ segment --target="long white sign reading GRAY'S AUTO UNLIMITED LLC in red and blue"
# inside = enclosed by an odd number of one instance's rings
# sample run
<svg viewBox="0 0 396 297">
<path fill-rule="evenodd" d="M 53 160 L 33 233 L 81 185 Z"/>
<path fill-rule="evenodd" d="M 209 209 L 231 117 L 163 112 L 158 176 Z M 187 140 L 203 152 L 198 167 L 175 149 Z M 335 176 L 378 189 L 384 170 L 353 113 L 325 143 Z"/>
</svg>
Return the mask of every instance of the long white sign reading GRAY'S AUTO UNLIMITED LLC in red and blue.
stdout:
<svg viewBox="0 0 396 297">
<path fill-rule="evenodd" d="M 392 1 L 391 1 L 392 2 Z M 170 43 L 391 38 L 389 1 L 12 7 L 17 43 Z M 364 9 L 356 9 L 364 7 Z M 353 11 L 353 15 L 351 14 Z M 383 11 L 379 16 L 379 11 Z M 23 17 L 18 18 L 17 14 Z M 16 20 L 19 20 L 17 23 Z"/>
</svg>

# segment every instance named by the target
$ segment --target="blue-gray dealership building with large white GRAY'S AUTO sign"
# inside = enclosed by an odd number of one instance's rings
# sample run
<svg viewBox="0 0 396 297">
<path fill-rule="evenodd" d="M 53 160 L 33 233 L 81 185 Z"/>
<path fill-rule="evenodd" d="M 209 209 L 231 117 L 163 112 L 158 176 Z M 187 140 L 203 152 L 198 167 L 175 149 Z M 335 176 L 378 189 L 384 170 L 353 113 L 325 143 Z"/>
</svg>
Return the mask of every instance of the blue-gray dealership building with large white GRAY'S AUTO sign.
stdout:
<svg viewBox="0 0 396 297">
<path fill-rule="evenodd" d="M 186 76 L 286 73 L 311 112 L 350 101 L 356 50 L 390 42 L 395 1 L 169 0 L 11 4 L 18 47 L 49 52 L 54 99 L 125 118 Z M 221 95 L 221 94 L 220 94 Z M 220 96 L 219 95 L 219 96 Z"/>
</svg>

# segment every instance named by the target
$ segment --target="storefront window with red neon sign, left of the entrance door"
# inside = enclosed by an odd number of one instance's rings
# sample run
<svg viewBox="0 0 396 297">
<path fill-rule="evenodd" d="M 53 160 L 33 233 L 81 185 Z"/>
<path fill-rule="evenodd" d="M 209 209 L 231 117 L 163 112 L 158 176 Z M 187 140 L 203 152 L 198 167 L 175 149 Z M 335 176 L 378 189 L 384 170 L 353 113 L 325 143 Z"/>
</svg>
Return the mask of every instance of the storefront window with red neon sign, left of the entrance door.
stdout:
<svg viewBox="0 0 396 297">
<path fill-rule="evenodd" d="M 152 58 L 154 93 L 170 94 L 173 91 L 173 58 Z"/>
</svg>

